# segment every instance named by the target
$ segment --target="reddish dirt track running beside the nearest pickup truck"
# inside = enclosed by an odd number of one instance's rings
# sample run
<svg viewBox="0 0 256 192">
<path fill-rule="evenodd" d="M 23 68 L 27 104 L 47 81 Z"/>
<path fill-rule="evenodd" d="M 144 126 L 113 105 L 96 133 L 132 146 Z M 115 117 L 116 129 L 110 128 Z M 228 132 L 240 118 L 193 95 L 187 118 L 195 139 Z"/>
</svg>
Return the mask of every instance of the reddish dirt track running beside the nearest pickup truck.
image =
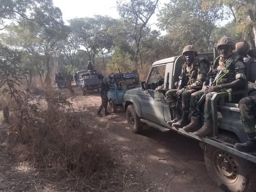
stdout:
<svg viewBox="0 0 256 192">
<path fill-rule="evenodd" d="M 75 87 L 70 99 L 76 110 L 95 114 L 101 99 L 98 93 L 82 96 Z M 125 113 L 119 109 L 106 117 L 96 117 L 96 125 L 106 131 L 106 142 L 118 149 L 126 167 L 124 183 L 132 192 L 221 192 L 204 165 L 204 151 L 198 142 L 175 132 L 162 133 L 144 128 L 141 134 L 129 130 Z"/>
</svg>

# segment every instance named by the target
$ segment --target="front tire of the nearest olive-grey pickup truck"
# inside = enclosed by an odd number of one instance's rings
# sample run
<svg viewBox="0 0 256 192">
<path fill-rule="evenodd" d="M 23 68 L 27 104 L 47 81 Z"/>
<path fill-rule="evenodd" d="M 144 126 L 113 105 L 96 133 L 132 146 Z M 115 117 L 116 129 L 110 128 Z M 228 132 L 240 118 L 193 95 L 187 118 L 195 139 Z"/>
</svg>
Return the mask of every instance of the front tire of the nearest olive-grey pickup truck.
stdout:
<svg viewBox="0 0 256 192">
<path fill-rule="evenodd" d="M 140 133 L 143 126 L 142 122 L 139 119 L 139 116 L 134 109 L 134 105 L 128 105 L 128 108 L 126 110 L 126 119 L 131 131 L 134 133 Z"/>
</svg>

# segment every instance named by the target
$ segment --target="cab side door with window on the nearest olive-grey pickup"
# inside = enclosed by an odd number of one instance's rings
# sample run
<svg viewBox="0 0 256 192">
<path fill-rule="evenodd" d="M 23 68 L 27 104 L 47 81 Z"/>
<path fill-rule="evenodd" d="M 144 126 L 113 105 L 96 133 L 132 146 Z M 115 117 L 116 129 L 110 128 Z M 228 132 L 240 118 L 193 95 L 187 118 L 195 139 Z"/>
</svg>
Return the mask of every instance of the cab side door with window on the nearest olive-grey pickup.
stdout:
<svg viewBox="0 0 256 192">
<path fill-rule="evenodd" d="M 163 117 L 163 93 L 155 89 L 164 84 L 166 65 L 152 67 L 150 75 L 146 81 L 146 87 L 142 91 L 141 111 L 142 116 L 152 122 L 160 124 L 164 121 Z"/>
</svg>

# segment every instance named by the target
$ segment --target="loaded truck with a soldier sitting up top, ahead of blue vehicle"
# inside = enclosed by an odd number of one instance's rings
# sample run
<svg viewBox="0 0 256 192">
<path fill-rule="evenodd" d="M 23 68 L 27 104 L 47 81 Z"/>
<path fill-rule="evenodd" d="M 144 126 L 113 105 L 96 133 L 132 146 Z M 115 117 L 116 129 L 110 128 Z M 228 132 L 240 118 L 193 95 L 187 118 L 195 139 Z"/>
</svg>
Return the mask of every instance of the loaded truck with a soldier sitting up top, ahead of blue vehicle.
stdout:
<svg viewBox="0 0 256 192">
<path fill-rule="evenodd" d="M 88 90 L 97 90 L 99 93 L 98 75 L 98 72 L 90 70 L 85 73 L 78 73 L 78 85 L 83 90 L 83 95 L 86 95 Z"/>
</svg>

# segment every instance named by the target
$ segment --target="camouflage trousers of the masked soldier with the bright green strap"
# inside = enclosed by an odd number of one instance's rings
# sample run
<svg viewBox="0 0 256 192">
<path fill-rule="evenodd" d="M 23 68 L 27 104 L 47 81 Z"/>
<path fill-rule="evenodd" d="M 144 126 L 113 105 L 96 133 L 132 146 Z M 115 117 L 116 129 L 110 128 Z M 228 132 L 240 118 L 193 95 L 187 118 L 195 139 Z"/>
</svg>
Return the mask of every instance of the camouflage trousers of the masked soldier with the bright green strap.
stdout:
<svg viewBox="0 0 256 192">
<path fill-rule="evenodd" d="M 217 93 L 217 92 L 207 93 L 207 95 L 205 97 L 204 119 L 212 119 L 211 99 L 215 93 Z M 200 100 L 201 96 L 203 96 L 203 95 L 204 95 L 203 90 L 192 93 L 191 100 L 190 100 L 190 112 L 195 109 L 198 101 Z M 200 117 L 200 111 L 195 111 L 192 116 L 194 116 L 196 119 L 198 119 Z"/>
</svg>

